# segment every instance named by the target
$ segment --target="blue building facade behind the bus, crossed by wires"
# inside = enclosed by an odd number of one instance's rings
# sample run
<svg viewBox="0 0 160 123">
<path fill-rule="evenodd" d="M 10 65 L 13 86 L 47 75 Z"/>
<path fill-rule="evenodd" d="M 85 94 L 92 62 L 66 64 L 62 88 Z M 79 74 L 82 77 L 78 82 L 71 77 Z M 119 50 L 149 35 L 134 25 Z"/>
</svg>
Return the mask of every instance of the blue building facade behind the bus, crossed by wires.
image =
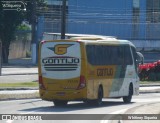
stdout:
<svg viewBox="0 0 160 123">
<path fill-rule="evenodd" d="M 139 48 L 160 44 L 160 0 L 67 0 L 66 32 L 115 36 Z M 44 32 L 61 32 L 62 0 L 48 0 Z"/>
</svg>

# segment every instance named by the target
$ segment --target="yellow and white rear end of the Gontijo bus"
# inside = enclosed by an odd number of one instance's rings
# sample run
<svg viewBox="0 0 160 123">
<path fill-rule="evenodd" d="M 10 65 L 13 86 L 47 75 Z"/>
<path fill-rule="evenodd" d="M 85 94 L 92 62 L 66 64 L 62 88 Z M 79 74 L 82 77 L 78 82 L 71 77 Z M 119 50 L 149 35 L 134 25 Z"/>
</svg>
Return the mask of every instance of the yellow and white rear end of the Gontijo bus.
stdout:
<svg viewBox="0 0 160 123">
<path fill-rule="evenodd" d="M 55 105 L 85 98 L 86 80 L 85 73 L 81 73 L 80 43 L 42 41 L 39 49 L 40 97 Z"/>
</svg>

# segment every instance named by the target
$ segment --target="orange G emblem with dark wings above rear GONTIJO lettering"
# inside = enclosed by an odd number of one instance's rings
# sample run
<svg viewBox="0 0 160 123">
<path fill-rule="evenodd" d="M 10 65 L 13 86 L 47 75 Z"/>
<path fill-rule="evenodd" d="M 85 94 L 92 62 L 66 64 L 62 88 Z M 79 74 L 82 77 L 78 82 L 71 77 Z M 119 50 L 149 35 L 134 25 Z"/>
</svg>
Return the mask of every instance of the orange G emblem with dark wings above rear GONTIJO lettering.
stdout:
<svg viewBox="0 0 160 123">
<path fill-rule="evenodd" d="M 63 55 L 67 53 L 68 47 L 72 46 L 73 44 L 57 44 L 54 47 L 48 47 L 48 49 L 54 51 L 57 55 Z"/>
</svg>

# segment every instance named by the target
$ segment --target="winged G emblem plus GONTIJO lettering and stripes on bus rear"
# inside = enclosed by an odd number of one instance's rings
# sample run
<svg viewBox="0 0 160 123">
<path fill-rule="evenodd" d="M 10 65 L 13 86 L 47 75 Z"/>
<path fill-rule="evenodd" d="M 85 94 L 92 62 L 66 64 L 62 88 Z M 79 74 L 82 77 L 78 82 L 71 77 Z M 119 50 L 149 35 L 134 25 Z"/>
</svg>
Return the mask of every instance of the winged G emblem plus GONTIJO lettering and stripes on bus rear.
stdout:
<svg viewBox="0 0 160 123">
<path fill-rule="evenodd" d="M 54 51 L 59 56 L 51 56 L 42 59 L 42 64 L 46 71 L 74 71 L 80 64 L 80 58 L 75 56 L 65 56 L 70 46 L 74 44 L 57 44 L 48 49 Z M 74 52 L 74 51 L 73 51 Z"/>
</svg>

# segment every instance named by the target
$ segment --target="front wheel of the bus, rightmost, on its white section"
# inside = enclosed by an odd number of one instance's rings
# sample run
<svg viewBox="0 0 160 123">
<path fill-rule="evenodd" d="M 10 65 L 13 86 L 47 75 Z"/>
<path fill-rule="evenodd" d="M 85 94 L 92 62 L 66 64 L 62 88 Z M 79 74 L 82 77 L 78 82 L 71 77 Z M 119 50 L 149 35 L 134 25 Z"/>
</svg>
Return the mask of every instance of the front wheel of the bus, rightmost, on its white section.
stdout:
<svg viewBox="0 0 160 123">
<path fill-rule="evenodd" d="M 130 84 L 129 85 L 129 94 L 128 94 L 128 96 L 123 97 L 123 102 L 124 103 L 130 103 L 131 100 L 132 100 L 132 95 L 133 95 L 133 85 Z"/>
</svg>

